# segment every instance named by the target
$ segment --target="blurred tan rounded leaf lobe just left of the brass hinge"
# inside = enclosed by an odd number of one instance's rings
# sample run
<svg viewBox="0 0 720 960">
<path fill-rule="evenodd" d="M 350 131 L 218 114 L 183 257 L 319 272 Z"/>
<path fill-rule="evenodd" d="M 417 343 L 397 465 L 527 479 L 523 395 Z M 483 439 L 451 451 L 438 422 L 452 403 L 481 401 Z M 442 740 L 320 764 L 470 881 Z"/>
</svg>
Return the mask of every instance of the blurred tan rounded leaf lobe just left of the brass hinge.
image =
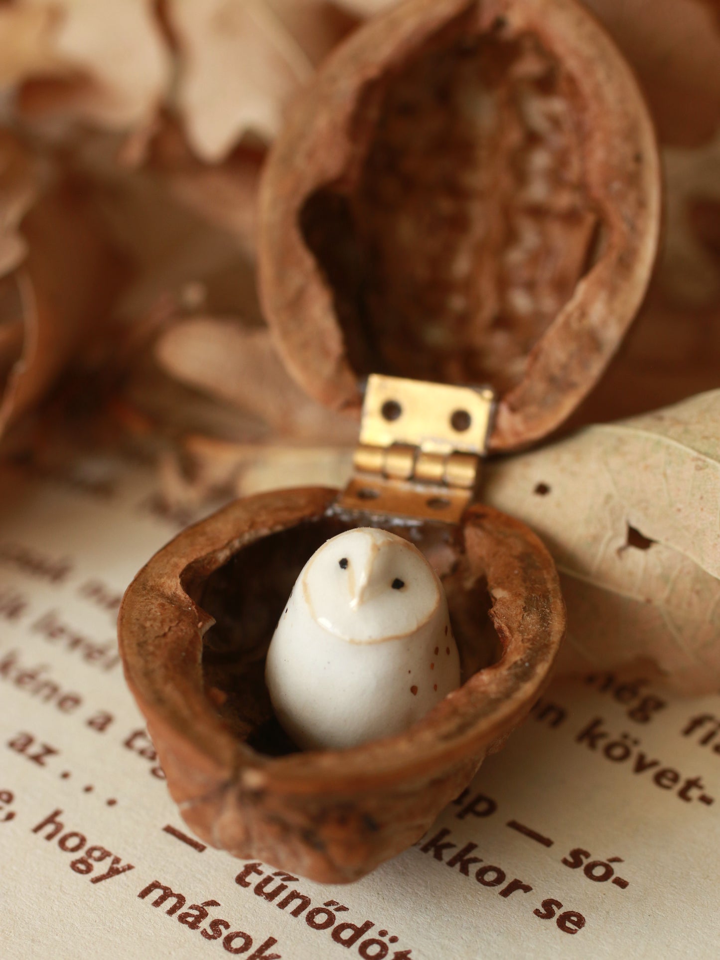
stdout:
<svg viewBox="0 0 720 960">
<path fill-rule="evenodd" d="M 323 444 L 355 440 L 352 420 L 302 393 L 280 363 L 266 329 L 196 317 L 160 337 L 156 358 L 180 382 L 261 417 L 278 437 Z"/>
</svg>

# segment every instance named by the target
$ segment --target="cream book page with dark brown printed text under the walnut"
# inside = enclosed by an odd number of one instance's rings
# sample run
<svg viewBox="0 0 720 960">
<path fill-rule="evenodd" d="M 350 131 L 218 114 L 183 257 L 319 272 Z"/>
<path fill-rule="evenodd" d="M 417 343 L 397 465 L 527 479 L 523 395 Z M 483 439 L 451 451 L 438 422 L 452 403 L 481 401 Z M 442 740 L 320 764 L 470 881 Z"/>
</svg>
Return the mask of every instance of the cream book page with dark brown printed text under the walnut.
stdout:
<svg viewBox="0 0 720 960">
<path fill-rule="evenodd" d="M 720 697 L 555 683 L 411 850 L 324 886 L 205 847 L 123 679 L 133 574 L 192 519 L 149 471 L 0 485 L 0 955 L 717 955 Z"/>
</svg>

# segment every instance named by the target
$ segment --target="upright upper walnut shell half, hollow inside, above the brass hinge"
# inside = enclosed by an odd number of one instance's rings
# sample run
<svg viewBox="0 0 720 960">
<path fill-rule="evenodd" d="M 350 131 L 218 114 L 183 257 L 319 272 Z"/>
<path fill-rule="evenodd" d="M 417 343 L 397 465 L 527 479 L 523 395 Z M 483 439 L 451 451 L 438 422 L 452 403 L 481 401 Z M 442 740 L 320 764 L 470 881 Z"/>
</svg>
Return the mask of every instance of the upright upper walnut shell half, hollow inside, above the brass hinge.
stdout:
<svg viewBox="0 0 720 960">
<path fill-rule="evenodd" d="M 276 141 L 259 265 L 290 372 L 492 385 L 490 446 L 556 428 L 636 314 L 659 160 L 635 79 L 572 0 L 407 0 L 350 36 Z"/>
</svg>

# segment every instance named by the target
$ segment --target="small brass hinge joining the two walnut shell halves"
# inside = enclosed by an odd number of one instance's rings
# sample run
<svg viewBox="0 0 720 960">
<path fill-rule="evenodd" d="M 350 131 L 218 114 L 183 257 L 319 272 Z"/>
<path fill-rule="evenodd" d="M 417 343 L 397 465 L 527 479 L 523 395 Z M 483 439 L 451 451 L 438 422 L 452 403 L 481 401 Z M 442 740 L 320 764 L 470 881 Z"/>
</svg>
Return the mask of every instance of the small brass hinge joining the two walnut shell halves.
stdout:
<svg viewBox="0 0 720 960">
<path fill-rule="evenodd" d="M 456 523 L 487 450 L 494 394 L 372 374 L 339 506 Z"/>
</svg>

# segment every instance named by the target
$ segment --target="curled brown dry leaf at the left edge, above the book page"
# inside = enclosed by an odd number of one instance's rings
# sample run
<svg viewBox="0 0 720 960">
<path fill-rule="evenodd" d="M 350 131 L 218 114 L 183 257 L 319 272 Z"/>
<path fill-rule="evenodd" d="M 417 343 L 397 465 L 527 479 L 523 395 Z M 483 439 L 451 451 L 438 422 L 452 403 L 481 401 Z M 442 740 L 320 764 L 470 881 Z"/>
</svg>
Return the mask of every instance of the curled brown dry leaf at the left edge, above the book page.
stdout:
<svg viewBox="0 0 720 960">
<path fill-rule="evenodd" d="M 48 179 L 0 134 L 0 433 L 77 357 L 117 289 L 84 191 Z"/>
</svg>

